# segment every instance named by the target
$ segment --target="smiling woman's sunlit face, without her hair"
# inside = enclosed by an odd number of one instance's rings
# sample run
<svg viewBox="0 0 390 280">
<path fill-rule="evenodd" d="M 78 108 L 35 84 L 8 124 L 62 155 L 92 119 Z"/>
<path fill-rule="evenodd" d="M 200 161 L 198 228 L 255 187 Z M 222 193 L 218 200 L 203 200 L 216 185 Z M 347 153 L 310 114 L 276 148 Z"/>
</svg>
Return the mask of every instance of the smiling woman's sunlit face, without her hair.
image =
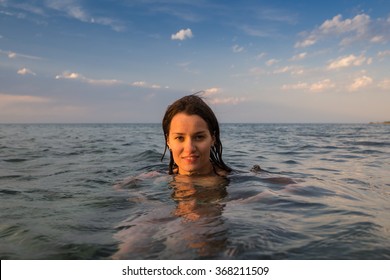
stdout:
<svg viewBox="0 0 390 280">
<path fill-rule="evenodd" d="M 176 114 L 172 120 L 167 144 L 182 175 L 212 173 L 210 149 L 214 137 L 207 123 L 198 115 Z"/>
</svg>

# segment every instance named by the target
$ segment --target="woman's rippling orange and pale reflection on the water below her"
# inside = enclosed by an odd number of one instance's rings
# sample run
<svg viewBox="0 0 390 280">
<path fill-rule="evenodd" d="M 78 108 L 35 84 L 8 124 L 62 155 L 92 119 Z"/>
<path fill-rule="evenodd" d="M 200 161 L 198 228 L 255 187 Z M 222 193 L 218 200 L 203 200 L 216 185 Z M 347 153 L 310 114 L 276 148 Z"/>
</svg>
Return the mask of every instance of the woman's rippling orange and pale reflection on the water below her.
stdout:
<svg viewBox="0 0 390 280">
<path fill-rule="evenodd" d="M 226 248 L 228 228 L 222 212 L 225 177 L 172 177 L 171 203 L 154 205 L 147 213 L 125 221 L 115 237 L 115 259 L 212 258 Z"/>
</svg>

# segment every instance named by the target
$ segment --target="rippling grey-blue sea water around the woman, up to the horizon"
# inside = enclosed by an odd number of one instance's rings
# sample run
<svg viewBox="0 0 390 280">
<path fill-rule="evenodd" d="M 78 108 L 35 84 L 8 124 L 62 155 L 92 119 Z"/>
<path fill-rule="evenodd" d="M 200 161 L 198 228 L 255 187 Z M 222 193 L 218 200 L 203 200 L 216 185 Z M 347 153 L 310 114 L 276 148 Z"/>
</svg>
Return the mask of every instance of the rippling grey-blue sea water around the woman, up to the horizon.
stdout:
<svg viewBox="0 0 390 280">
<path fill-rule="evenodd" d="M 157 124 L 0 125 L 0 258 L 390 258 L 390 126 L 221 129 L 238 171 L 188 178 Z"/>
</svg>

